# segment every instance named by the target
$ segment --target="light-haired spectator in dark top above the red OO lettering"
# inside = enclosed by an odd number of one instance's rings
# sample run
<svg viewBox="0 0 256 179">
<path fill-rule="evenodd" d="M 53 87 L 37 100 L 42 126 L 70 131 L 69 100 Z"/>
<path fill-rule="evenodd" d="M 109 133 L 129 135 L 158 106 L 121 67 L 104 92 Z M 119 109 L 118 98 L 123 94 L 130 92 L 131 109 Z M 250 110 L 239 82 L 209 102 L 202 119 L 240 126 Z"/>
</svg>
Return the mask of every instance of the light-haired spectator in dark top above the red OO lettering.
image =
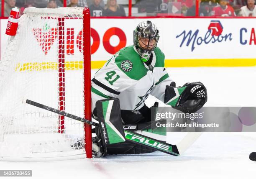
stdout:
<svg viewBox="0 0 256 179">
<path fill-rule="evenodd" d="M 116 0 L 108 0 L 103 16 L 125 16 L 125 10 Z"/>
</svg>

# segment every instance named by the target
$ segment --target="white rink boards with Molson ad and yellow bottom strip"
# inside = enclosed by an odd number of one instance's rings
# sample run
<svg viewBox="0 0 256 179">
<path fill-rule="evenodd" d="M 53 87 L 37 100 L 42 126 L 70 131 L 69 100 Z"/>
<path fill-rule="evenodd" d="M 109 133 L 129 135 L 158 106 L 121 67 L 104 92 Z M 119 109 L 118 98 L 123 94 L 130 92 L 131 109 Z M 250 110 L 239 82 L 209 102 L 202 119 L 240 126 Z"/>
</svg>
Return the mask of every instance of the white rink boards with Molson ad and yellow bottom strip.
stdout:
<svg viewBox="0 0 256 179">
<path fill-rule="evenodd" d="M 256 65 L 253 25 L 256 19 L 253 18 L 108 18 L 91 19 L 91 54 L 92 61 L 97 61 L 92 63 L 92 68 L 100 68 L 118 50 L 133 45 L 133 30 L 144 20 L 152 20 L 159 29 L 158 46 L 165 54 L 166 67 Z M 0 20 L 1 56 L 8 39 L 5 35 L 7 22 L 7 19 Z M 82 28 L 77 24 L 65 20 L 65 58 L 69 60 L 82 56 Z M 56 28 L 45 26 L 47 28 L 38 27 L 31 31 L 43 29 L 54 43 Z M 45 55 L 50 51 L 42 49 Z"/>
</svg>

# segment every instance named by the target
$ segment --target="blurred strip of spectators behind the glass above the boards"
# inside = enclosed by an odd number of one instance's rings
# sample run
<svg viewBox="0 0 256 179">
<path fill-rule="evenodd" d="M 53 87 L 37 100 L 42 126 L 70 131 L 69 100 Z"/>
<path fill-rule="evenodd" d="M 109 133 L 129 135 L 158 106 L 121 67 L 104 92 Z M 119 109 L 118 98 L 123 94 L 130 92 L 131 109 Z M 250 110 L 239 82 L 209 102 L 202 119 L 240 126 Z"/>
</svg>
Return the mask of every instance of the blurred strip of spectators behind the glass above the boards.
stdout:
<svg viewBox="0 0 256 179">
<path fill-rule="evenodd" d="M 89 7 L 91 16 L 127 16 L 128 0 L 5 0 L 5 17 L 14 7 Z M 127 2 L 126 2 L 127 1 Z M 121 2 L 122 4 L 119 4 Z M 132 16 L 195 16 L 195 0 L 132 0 Z M 1 1 L 0 1 L 1 5 Z M 1 11 L 1 8 L 0 8 Z M 1 12 L 0 12 L 1 14 Z M 255 0 L 199 0 L 199 16 L 256 16 Z"/>
</svg>

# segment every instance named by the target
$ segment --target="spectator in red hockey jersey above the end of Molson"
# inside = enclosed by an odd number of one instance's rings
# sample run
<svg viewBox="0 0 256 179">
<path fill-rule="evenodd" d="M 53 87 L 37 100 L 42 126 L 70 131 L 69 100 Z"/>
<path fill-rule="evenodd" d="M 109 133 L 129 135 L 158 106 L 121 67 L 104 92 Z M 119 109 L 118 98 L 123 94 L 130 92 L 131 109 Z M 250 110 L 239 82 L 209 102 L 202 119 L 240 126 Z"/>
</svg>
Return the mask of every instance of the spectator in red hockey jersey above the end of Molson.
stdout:
<svg viewBox="0 0 256 179">
<path fill-rule="evenodd" d="M 212 9 L 212 16 L 236 16 L 234 9 L 228 5 L 228 0 L 220 0 L 220 6 Z"/>
</svg>

